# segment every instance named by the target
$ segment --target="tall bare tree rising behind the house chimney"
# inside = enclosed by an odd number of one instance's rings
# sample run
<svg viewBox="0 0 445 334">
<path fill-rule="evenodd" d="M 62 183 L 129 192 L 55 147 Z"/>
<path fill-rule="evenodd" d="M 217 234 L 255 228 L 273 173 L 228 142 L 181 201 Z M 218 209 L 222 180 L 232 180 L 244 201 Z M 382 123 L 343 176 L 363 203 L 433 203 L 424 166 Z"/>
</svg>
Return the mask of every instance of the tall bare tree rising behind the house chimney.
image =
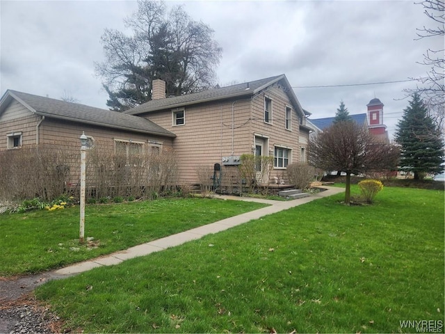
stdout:
<svg viewBox="0 0 445 334">
<path fill-rule="evenodd" d="M 106 29 L 101 38 L 106 61 L 95 64 L 111 109 L 149 101 L 153 79 L 165 81 L 168 96 L 214 86 L 222 49 L 207 24 L 191 19 L 181 6 L 167 12 L 163 1 L 149 0 L 138 1 L 138 11 L 125 23 L 133 34 Z"/>
</svg>

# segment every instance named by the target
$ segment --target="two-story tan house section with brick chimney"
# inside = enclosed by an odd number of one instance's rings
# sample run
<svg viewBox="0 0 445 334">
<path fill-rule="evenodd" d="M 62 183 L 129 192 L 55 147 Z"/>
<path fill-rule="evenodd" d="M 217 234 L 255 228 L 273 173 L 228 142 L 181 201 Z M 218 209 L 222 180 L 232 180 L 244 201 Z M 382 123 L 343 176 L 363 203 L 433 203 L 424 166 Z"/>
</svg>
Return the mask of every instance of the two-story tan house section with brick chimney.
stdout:
<svg viewBox="0 0 445 334">
<path fill-rule="evenodd" d="M 147 118 L 176 134 L 174 148 L 181 180 L 195 182 L 200 165 L 220 164 L 223 175 L 241 154 L 273 157 L 273 178 L 286 166 L 305 161 L 309 116 L 284 74 L 200 93 L 165 97 L 165 83 L 154 81 L 153 100 L 125 113 Z"/>
</svg>

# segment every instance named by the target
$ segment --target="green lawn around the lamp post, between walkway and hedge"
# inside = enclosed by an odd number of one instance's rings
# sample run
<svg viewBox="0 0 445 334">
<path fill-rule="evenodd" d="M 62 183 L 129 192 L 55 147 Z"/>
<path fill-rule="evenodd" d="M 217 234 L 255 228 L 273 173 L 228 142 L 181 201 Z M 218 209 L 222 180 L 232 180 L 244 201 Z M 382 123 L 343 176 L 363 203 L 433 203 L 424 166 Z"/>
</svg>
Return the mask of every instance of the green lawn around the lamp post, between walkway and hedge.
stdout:
<svg viewBox="0 0 445 334">
<path fill-rule="evenodd" d="M 0 215 L 0 276 L 38 273 L 166 237 L 265 205 L 218 199 L 166 198 L 87 205 L 79 244 L 79 207 Z"/>
</svg>

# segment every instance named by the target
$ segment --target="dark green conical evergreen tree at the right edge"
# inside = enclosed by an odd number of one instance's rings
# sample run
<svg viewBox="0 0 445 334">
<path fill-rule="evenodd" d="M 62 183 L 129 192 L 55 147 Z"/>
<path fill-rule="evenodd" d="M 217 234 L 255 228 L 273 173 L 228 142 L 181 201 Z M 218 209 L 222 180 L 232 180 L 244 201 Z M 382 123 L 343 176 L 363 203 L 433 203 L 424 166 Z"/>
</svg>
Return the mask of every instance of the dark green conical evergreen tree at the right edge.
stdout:
<svg viewBox="0 0 445 334">
<path fill-rule="evenodd" d="M 401 145 L 401 170 L 414 172 L 414 179 L 421 179 L 422 173 L 439 174 L 444 170 L 443 138 L 418 93 L 403 109 L 396 142 Z"/>
</svg>

